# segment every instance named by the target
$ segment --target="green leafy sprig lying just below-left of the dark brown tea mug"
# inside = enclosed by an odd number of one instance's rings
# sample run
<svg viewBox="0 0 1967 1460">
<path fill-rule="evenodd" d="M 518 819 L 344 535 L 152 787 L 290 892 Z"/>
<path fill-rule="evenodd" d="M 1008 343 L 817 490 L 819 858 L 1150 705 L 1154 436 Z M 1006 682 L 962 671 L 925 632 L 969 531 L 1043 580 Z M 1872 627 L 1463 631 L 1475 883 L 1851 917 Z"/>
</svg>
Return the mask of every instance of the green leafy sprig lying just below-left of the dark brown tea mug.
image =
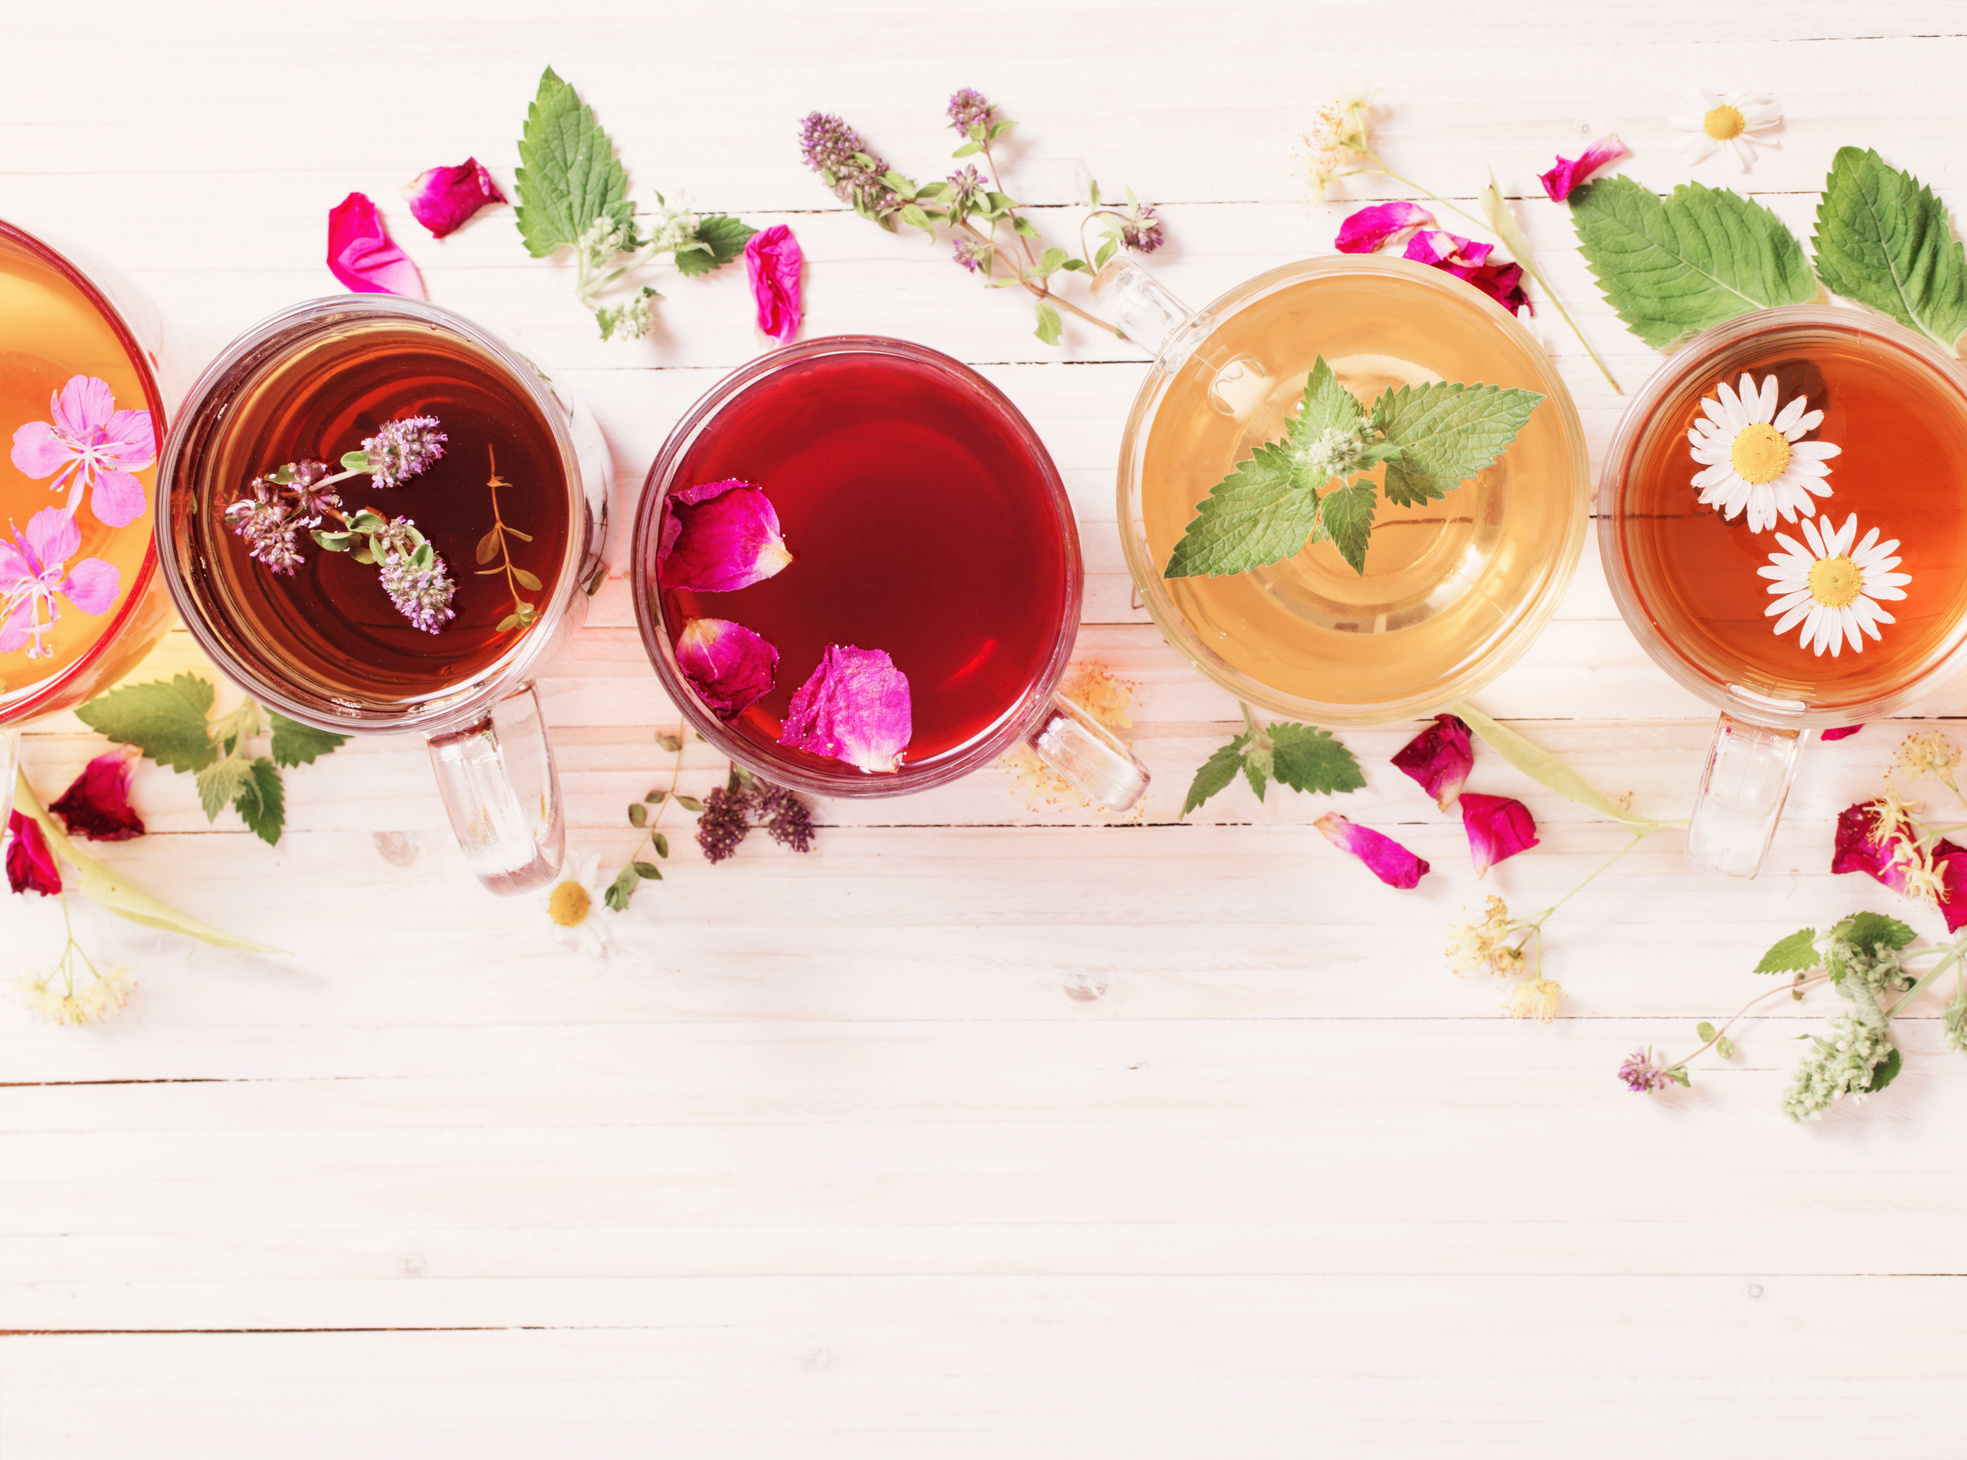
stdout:
<svg viewBox="0 0 1967 1460">
<path fill-rule="evenodd" d="M 309 765 L 348 736 L 289 720 L 250 697 L 238 708 L 214 716 L 212 700 L 209 679 L 177 675 L 122 685 L 89 700 L 75 714 L 96 734 L 120 746 L 136 746 L 157 765 L 191 771 L 207 821 L 216 821 L 230 805 L 271 846 L 279 842 L 287 817 L 281 767 Z M 266 756 L 248 752 L 248 742 L 260 736 L 269 738 Z"/>
</svg>

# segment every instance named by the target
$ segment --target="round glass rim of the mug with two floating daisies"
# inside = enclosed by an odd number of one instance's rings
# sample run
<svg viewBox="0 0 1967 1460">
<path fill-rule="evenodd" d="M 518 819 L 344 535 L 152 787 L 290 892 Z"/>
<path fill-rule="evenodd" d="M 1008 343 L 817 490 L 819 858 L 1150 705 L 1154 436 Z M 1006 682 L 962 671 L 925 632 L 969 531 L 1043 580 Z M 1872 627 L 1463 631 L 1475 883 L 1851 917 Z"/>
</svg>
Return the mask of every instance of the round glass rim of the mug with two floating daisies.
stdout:
<svg viewBox="0 0 1967 1460">
<path fill-rule="evenodd" d="M 1786 730 L 1833 730 L 1847 724 L 1863 724 L 1865 720 L 1884 720 L 1953 679 L 1963 667 L 1967 667 L 1967 614 L 1961 614 L 1961 620 L 1953 626 L 1949 643 L 1939 649 L 1918 675 L 1908 679 L 1898 689 L 1875 695 L 1869 700 L 1837 704 L 1833 708 L 1806 706 L 1802 710 L 1792 710 L 1786 706 L 1796 704 L 1796 700 L 1774 700 L 1735 685 L 1719 683 L 1713 675 L 1699 669 L 1692 659 L 1674 649 L 1666 634 L 1658 630 L 1652 614 L 1646 610 L 1639 584 L 1633 582 L 1633 575 L 1627 571 L 1625 553 L 1621 551 L 1627 474 L 1639 451 L 1640 437 L 1646 433 L 1654 411 L 1658 411 L 1666 395 L 1678 390 L 1688 376 L 1707 368 L 1713 356 L 1733 348 L 1735 344 L 1755 338 L 1757 335 L 1792 329 L 1827 329 L 1869 336 L 1890 350 L 1898 350 L 1943 380 L 1955 395 L 1959 395 L 1961 411 L 1967 413 L 1967 368 L 1963 368 L 1959 360 L 1949 358 L 1926 336 L 1912 333 L 1898 321 L 1873 309 L 1865 309 L 1861 305 L 1810 303 L 1776 305 L 1770 309 L 1755 309 L 1747 315 L 1735 315 L 1719 325 L 1709 325 L 1686 344 L 1676 348 L 1652 372 L 1652 376 L 1648 376 L 1646 384 L 1639 388 L 1639 394 L 1633 395 L 1633 401 L 1619 415 L 1619 425 L 1613 431 L 1611 447 L 1605 451 L 1605 464 L 1601 466 L 1597 480 L 1597 541 L 1599 559 L 1605 567 L 1605 582 L 1611 588 L 1613 602 L 1619 606 L 1619 616 L 1625 620 L 1633 638 L 1639 639 L 1646 657 L 1664 669 L 1676 685 L 1713 708 L 1725 710 L 1753 724 Z"/>
</svg>

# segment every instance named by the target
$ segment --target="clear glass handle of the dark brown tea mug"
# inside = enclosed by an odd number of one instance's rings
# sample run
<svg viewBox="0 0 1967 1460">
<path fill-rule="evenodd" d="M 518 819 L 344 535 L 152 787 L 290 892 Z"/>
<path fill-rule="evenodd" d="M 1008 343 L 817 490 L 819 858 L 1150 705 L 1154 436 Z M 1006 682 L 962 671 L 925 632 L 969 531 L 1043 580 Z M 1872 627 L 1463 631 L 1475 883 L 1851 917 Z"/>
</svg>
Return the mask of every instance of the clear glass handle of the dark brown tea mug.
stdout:
<svg viewBox="0 0 1967 1460">
<path fill-rule="evenodd" d="M 500 895 L 553 882 L 566 854 L 561 777 L 531 685 L 476 724 L 425 736 L 464 862 Z"/>
</svg>

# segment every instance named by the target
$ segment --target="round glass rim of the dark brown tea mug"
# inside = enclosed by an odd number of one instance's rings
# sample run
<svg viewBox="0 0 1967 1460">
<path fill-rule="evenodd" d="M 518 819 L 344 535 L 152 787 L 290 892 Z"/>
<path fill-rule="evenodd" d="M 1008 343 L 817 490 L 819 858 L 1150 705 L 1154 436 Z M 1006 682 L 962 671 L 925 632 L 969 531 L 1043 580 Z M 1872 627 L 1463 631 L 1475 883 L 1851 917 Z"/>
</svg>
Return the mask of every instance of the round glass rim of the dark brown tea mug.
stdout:
<svg viewBox="0 0 1967 1460">
<path fill-rule="evenodd" d="M 372 319 L 405 319 L 431 325 L 484 350 L 506 372 L 509 384 L 527 395 L 539 409 L 539 415 L 553 433 L 555 447 L 561 453 L 561 476 L 566 484 L 568 506 L 572 508 L 576 504 L 582 480 L 578 456 L 566 431 L 566 423 L 561 419 L 561 403 L 547 390 L 543 372 L 531 360 L 482 325 L 476 325 L 464 315 L 445 309 L 443 305 L 433 305 L 425 299 L 405 299 L 393 293 L 319 295 L 268 315 L 258 325 L 230 338 L 212 362 L 199 372 L 199 378 L 185 394 L 179 417 L 165 437 L 163 451 L 157 455 L 157 484 L 153 502 L 157 561 L 163 573 L 163 582 L 171 592 L 171 602 L 193 639 L 197 639 L 199 647 L 212 659 L 212 663 L 216 663 L 234 683 L 248 689 L 254 699 L 293 720 L 336 734 L 433 734 L 468 724 L 482 716 L 486 706 L 502 699 L 506 693 L 521 687 L 539 661 L 553 651 L 557 636 L 551 630 L 553 620 L 559 614 L 559 600 L 568 594 L 570 586 L 578 586 L 570 584 L 570 580 L 578 577 L 580 567 L 582 535 L 578 531 L 566 533 L 561 571 L 555 578 L 555 606 L 543 610 L 539 622 L 521 634 L 517 643 L 480 669 L 470 681 L 447 687 L 423 700 L 417 700 L 405 710 L 380 710 L 374 706 L 350 710 L 344 702 L 334 700 L 328 695 L 297 695 L 289 687 L 273 681 L 269 675 L 262 673 L 258 663 L 248 663 L 240 653 L 236 653 L 226 636 L 212 630 L 205 616 L 205 598 L 189 582 L 183 565 L 177 561 L 175 545 L 169 551 L 163 549 L 165 535 L 169 533 L 173 539 L 177 535 L 169 506 L 181 458 L 189 449 L 191 437 L 199 431 L 207 411 L 214 405 L 222 407 L 228 403 L 244 384 L 244 376 L 234 376 L 242 368 L 250 368 L 258 374 L 258 370 L 266 368 L 271 360 L 291 354 L 291 346 L 313 338 L 321 331 L 332 329 L 336 323 L 362 323 Z M 277 350 L 268 348 L 275 344 L 279 346 Z"/>
</svg>

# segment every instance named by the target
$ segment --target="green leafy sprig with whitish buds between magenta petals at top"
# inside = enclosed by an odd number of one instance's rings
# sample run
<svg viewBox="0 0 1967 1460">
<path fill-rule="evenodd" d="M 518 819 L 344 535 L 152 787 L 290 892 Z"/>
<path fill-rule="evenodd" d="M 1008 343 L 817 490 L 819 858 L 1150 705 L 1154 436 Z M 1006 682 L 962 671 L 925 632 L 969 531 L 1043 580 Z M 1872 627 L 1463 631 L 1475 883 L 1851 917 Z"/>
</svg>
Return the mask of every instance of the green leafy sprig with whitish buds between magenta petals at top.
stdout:
<svg viewBox="0 0 1967 1460">
<path fill-rule="evenodd" d="M 720 270 L 755 228 L 726 214 L 698 216 L 655 195 L 659 214 L 643 222 L 627 199 L 627 171 L 594 110 L 553 67 L 525 112 L 515 173 L 519 238 L 533 258 L 574 250 L 574 295 L 594 315 L 602 338 L 641 338 L 655 325 L 661 295 L 635 287 L 635 270 L 669 254 L 685 277 Z M 626 299 L 610 295 L 631 289 Z"/>
</svg>

